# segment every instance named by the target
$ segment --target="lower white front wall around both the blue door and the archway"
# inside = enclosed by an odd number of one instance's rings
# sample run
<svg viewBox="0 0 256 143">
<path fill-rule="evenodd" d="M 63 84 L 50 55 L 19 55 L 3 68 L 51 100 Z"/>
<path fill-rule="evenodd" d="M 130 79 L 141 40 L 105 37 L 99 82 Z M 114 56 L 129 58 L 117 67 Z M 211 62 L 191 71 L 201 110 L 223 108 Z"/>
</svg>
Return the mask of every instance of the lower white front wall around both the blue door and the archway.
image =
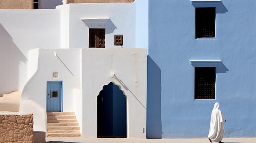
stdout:
<svg viewBox="0 0 256 143">
<path fill-rule="evenodd" d="M 63 111 L 76 112 L 83 137 L 97 137 L 97 96 L 113 82 L 127 97 L 128 138 L 146 138 L 146 48 L 34 49 L 29 53 L 36 52 L 38 56 L 30 60 L 38 58 L 38 68 L 22 90 L 20 102 L 29 99 L 46 108 L 47 81 L 63 81 Z M 55 71 L 59 72 L 56 79 Z"/>
</svg>

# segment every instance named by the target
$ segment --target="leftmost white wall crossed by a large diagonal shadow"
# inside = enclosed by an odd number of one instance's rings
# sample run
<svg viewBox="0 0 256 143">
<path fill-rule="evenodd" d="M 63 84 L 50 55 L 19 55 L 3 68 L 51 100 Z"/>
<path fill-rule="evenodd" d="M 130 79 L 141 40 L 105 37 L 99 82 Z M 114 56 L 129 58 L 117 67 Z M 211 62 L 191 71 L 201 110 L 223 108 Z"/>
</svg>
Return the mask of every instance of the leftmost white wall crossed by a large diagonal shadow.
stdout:
<svg viewBox="0 0 256 143">
<path fill-rule="evenodd" d="M 22 90 L 29 50 L 60 48 L 59 10 L 0 10 L 0 94 Z"/>
</svg>

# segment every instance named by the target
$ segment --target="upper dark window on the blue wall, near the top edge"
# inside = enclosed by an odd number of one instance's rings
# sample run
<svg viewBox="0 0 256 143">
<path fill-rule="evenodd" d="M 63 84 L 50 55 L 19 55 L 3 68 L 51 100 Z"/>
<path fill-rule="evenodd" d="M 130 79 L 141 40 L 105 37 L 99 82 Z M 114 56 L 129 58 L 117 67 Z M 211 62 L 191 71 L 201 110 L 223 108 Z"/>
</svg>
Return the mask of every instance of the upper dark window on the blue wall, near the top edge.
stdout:
<svg viewBox="0 0 256 143">
<path fill-rule="evenodd" d="M 215 7 L 195 8 L 195 37 L 215 37 Z"/>
</svg>

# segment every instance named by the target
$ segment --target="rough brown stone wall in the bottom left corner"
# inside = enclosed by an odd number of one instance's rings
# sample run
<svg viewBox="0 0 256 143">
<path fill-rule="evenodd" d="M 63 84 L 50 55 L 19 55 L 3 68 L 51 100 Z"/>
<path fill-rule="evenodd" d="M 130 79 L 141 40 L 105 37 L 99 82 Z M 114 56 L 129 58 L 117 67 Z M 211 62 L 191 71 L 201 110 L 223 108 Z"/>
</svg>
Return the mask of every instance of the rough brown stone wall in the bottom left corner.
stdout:
<svg viewBox="0 0 256 143">
<path fill-rule="evenodd" d="M 0 143 L 33 143 L 33 114 L 0 115 Z"/>
</svg>

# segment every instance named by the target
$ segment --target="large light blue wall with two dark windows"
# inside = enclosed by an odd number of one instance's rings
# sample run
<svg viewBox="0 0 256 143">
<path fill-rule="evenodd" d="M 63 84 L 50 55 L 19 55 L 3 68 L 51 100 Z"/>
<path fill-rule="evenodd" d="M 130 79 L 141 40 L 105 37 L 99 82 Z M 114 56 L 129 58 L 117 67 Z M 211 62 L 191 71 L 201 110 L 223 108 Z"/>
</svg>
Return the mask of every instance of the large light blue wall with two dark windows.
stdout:
<svg viewBox="0 0 256 143">
<path fill-rule="evenodd" d="M 207 138 L 215 102 L 224 137 L 256 136 L 256 0 L 149 0 L 147 138 Z M 195 7 L 216 7 L 215 38 L 195 39 Z M 190 60 L 221 60 L 216 99 L 194 99 Z M 210 65 L 204 65 L 210 66 Z"/>
</svg>

